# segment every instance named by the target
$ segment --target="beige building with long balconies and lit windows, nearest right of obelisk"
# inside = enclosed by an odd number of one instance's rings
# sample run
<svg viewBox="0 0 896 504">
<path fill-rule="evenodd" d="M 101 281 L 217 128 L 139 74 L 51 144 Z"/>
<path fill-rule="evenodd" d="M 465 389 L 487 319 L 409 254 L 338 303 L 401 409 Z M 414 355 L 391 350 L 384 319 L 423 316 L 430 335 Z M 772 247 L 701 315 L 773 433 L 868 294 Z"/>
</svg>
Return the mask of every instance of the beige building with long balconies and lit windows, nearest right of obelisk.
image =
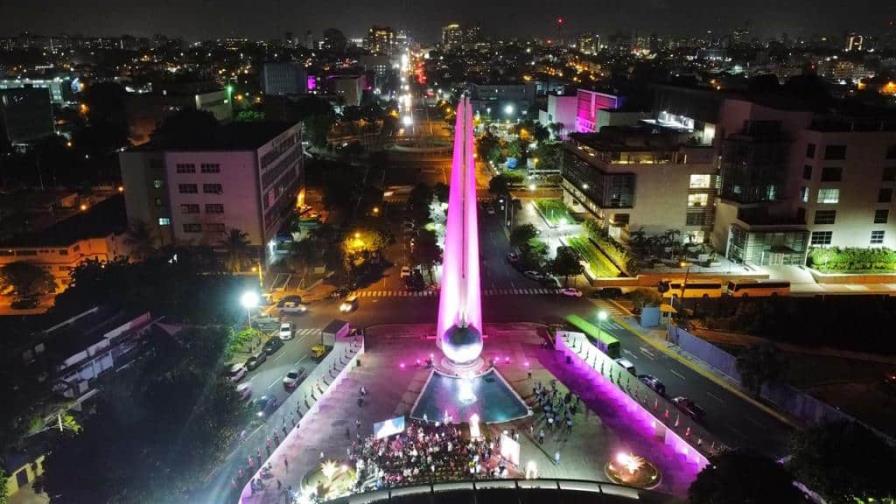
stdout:
<svg viewBox="0 0 896 504">
<path fill-rule="evenodd" d="M 632 231 L 669 229 L 703 243 L 714 218 L 718 167 L 711 148 L 655 126 L 573 134 L 561 167 L 563 200 L 626 241 Z"/>
</svg>

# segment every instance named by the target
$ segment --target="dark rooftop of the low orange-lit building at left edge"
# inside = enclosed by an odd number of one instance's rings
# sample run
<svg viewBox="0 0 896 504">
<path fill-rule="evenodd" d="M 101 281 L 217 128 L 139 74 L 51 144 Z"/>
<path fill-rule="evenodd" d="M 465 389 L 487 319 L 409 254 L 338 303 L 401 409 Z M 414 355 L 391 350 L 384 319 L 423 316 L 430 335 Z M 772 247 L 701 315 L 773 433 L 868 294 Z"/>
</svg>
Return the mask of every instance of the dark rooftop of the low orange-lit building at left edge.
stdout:
<svg viewBox="0 0 896 504">
<path fill-rule="evenodd" d="M 38 232 L 15 235 L 2 240 L 0 248 L 67 246 L 78 240 L 100 238 L 123 233 L 125 230 L 127 230 L 127 215 L 124 197 L 116 194 L 89 207 L 86 211 L 77 212 Z"/>
</svg>

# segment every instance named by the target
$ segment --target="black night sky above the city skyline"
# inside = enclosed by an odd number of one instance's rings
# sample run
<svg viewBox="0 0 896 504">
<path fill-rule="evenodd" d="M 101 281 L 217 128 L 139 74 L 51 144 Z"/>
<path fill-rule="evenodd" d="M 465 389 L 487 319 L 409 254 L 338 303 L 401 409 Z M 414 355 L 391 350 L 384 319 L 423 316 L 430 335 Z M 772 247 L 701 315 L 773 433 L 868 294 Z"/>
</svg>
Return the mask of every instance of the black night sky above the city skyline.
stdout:
<svg viewBox="0 0 896 504">
<path fill-rule="evenodd" d="M 372 23 L 407 28 L 424 42 L 452 21 L 486 33 L 554 35 L 563 16 L 570 33 L 702 33 L 751 22 L 762 36 L 877 33 L 896 18 L 892 0 L 0 0 L 0 34 L 164 33 L 189 40 L 316 36 L 328 27 L 361 36 Z"/>
</svg>

